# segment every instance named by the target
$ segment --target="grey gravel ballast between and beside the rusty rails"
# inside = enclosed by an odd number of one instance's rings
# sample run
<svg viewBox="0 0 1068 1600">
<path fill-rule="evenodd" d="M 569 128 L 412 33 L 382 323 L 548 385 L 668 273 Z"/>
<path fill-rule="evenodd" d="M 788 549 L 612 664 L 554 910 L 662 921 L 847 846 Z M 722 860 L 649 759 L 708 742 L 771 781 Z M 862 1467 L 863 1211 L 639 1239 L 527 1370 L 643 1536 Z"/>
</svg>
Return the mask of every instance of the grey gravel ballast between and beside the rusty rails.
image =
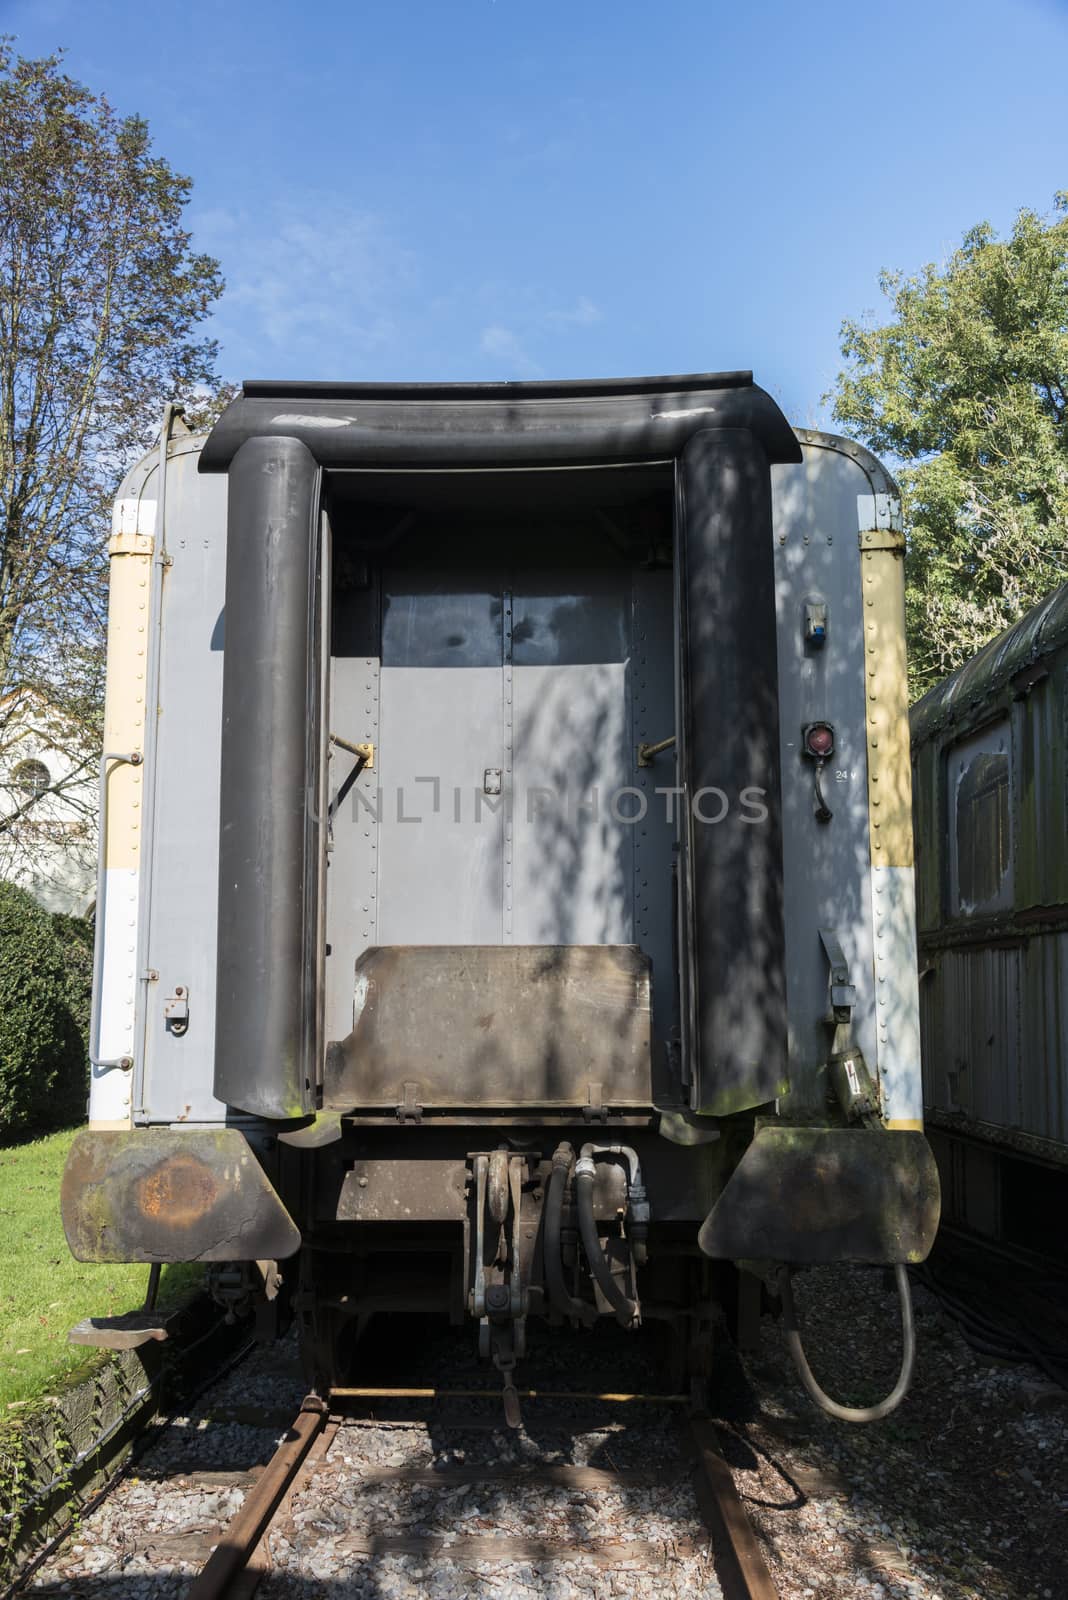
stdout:
<svg viewBox="0 0 1068 1600">
<path fill-rule="evenodd" d="M 798 1302 L 812 1365 L 830 1392 L 867 1403 L 892 1384 L 897 1307 L 883 1274 L 804 1274 Z M 759 1349 L 740 1366 L 731 1355 L 721 1362 L 713 1411 L 783 1600 L 1065 1600 L 1066 1397 L 1031 1368 L 980 1362 L 924 1290 L 916 1291 L 916 1325 L 915 1390 L 895 1416 L 870 1427 L 833 1422 L 811 1406 L 771 1318 L 761 1325 Z M 457 1387 L 486 1382 L 472 1330 L 435 1334 L 417 1370 L 404 1370 L 406 1382 L 428 1374 Z M 660 1371 L 648 1341 L 598 1330 L 592 1341 L 540 1338 L 520 1381 L 534 1378 L 545 1387 L 656 1387 Z M 357 1381 L 379 1379 L 363 1371 Z M 131 1472 L 34 1573 L 26 1592 L 177 1600 L 270 1459 L 302 1389 L 293 1344 L 254 1352 L 192 1416 L 169 1418 L 153 1432 Z M 249 1421 L 256 1408 L 267 1408 L 272 1427 Z M 632 1406 L 622 1414 L 536 1402 L 524 1408 L 518 1434 L 500 1426 L 496 1397 L 464 1402 L 454 1419 L 478 1422 L 470 1427 L 446 1426 L 446 1411 L 427 1421 L 417 1410 L 395 1406 L 389 1418 L 342 1424 L 312 1461 L 312 1477 L 272 1528 L 264 1600 L 718 1600 L 708 1534 L 681 1454 L 679 1408 Z M 545 1466 L 627 1477 L 593 1488 L 508 1477 Z M 504 1477 L 448 1486 L 401 1477 L 441 1467 Z M 656 1560 L 459 1563 L 369 1550 L 376 1534 L 644 1541 Z"/>
</svg>

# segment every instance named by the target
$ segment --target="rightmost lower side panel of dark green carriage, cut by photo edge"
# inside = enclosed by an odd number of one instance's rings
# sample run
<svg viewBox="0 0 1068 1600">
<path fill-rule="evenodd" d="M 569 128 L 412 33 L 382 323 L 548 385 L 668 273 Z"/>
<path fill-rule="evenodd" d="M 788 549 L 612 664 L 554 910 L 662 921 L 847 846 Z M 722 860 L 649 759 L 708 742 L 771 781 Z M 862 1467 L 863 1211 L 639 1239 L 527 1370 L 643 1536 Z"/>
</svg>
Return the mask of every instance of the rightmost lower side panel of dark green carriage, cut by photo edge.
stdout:
<svg viewBox="0 0 1068 1600">
<path fill-rule="evenodd" d="M 1068 933 L 1033 938 L 1022 979 L 1020 1126 L 1068 1144 Z"/>
</svg>

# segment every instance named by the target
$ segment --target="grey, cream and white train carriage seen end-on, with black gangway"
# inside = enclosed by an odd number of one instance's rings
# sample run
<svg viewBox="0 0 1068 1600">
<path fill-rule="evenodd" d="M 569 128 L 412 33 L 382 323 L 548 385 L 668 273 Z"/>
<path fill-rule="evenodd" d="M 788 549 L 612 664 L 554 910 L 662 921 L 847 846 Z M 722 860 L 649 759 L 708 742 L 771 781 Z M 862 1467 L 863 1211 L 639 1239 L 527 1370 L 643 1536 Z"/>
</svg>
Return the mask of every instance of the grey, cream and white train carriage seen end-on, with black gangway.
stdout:
<svg viewBox="0 0 1068 1600">
<path fill-rule="evenodd" d="M 902 554 L 748 373 L 168 411 L 110 544 L 78 1259 L 281 1285 L 318 1382 L 377 1310 L 472 1318 L 513 1418 L 532 1315 L 700 1374 L 737 1264 L 903 1283 Z"/>
</svg>

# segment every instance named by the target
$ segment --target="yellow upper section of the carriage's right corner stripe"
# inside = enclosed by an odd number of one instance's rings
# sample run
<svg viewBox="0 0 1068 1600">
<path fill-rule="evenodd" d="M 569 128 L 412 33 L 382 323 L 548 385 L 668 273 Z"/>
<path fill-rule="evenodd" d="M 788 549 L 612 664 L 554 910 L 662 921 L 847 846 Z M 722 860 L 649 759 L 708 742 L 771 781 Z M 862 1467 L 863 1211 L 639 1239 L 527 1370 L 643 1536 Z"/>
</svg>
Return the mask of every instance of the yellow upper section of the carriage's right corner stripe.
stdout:
<svg viewBox="0 0 1068 1600">
<path fill-rule="evenodd" d="M 911 867 L 905 536 L 883 528 L 862 533 L 860 552 L 871 862 Z"/>
</svg>

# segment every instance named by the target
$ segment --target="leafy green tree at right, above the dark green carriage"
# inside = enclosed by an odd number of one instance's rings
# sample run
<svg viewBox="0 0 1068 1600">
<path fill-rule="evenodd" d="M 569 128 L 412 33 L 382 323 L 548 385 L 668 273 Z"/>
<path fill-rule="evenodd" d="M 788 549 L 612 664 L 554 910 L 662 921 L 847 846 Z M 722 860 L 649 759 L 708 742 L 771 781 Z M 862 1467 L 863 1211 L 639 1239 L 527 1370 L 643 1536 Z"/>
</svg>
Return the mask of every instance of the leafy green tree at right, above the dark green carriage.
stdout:
<svg viewBox="0 0 1068 1600">
<path fill-rule="evenodd" d="M 899 474 L 921 694 L 1068 579 L 1068 194 L 879 283 L 894 315 L 843 323 L 828 398 Z"/>
</svg>

